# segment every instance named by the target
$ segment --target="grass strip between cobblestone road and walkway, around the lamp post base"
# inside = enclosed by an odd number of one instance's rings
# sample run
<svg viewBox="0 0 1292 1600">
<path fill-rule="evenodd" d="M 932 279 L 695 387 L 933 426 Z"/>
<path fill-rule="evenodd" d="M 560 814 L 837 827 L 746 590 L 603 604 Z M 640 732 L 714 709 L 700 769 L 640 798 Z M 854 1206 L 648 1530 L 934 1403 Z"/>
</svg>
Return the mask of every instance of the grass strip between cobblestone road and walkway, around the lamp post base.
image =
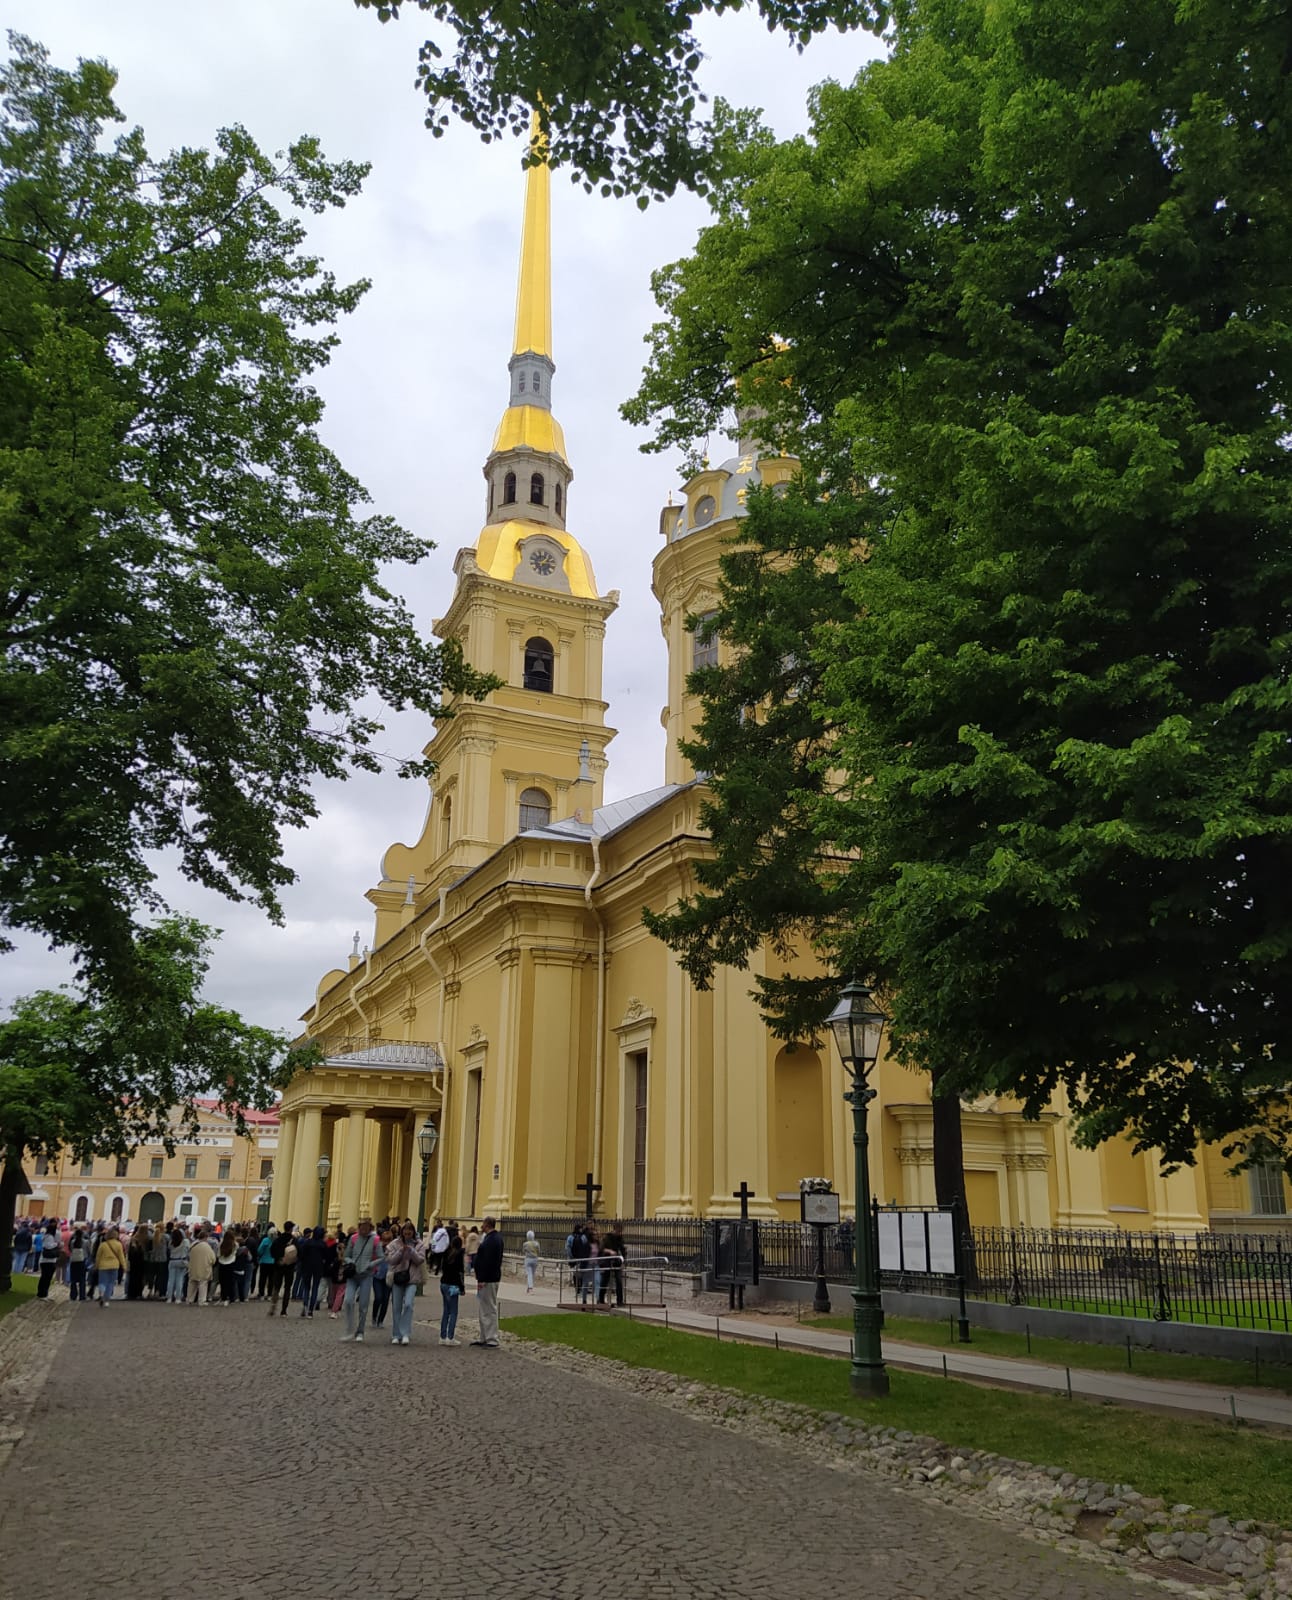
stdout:
<svg viewBox="0 0 1292 1600">
<path fill-rule="evenodd" d="M 518 1339 L 566 1344 L 740 1394 L 931 1434 L 961 1448 L 991 1450 L 1107 1483 L 1130 1483 L 1167 1504 L 1183 1501 L 1231 1517 L 1281 1523 L 1292 1506 L 1287 1438 L 1246 1427 L 1051 1395 L 1004 1394 L 895 1370 L 887 1400 L 857 1400 L 836 1357 L 718 1342 L 609 1317 L 515 1317 L 507 1331 Z"/>
</svg>

